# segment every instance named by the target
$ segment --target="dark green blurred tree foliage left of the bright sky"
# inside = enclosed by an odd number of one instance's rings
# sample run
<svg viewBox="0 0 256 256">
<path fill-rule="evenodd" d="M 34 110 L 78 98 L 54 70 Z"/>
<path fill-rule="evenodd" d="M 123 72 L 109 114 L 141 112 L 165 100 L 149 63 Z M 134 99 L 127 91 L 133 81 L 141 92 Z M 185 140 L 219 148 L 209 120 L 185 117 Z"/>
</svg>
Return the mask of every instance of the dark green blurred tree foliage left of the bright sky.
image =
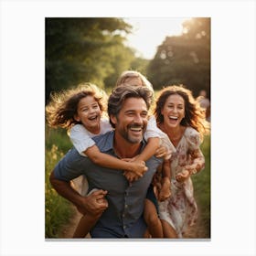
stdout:
<svg viewBox="0 0 256 256">
<path fill-rule="evenodd" d="M 112 87 L 112 74 L 134 59 L 123 45 L 131 29 L 122 18 L 46 18 L 46 100 L 50 91 L 85 81 Z"/>
</svg>

